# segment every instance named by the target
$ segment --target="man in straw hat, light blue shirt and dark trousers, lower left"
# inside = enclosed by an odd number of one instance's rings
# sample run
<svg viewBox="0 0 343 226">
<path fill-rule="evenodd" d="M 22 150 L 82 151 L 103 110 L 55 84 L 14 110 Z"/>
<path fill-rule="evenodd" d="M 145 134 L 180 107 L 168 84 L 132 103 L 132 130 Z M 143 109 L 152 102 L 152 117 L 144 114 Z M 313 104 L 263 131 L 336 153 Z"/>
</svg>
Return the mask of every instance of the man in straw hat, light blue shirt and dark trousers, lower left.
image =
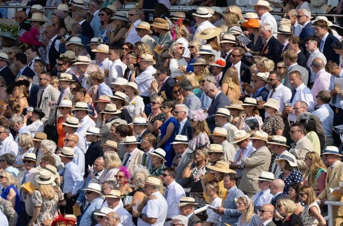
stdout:
<svg viewBox="0 0 343 226">
<path fill-rule="evenodd" d="M 64 193 L 66 206 L 61 206 L 62 213 L 73 213 L 73 205 L 79 195 L 80 189 L 83 187 L 83 177 L 80 175 L 78 166 L 73 162 L 74 150 L 73 148 L 64 147 L 60 154 L 61 161 L 64 163 L 63 181 L 61 189 Z"/>
</svg>

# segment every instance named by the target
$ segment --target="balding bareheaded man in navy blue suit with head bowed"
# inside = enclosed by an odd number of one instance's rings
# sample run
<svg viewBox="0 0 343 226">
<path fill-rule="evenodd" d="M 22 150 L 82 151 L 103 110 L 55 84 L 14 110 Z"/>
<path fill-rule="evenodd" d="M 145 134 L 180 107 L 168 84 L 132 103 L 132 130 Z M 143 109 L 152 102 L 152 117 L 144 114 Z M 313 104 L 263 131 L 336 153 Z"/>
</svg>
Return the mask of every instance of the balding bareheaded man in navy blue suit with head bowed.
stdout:
<svg viewBox="0 0 343 226">
<path fill-rule="evenodd" d="M 208 127 L 212 132 L 216 127 L 214 114 L 219 108 L 225 108 L 225 106 L 230 105 L 230 100 L 221 90 L 216 87 L 215 84 L 211 82 L 205 83 L 203 89 L 206 95 L 213 99 L 210 107 L 208 108 L 208 117 L 206 118 Z"/>
</svg>

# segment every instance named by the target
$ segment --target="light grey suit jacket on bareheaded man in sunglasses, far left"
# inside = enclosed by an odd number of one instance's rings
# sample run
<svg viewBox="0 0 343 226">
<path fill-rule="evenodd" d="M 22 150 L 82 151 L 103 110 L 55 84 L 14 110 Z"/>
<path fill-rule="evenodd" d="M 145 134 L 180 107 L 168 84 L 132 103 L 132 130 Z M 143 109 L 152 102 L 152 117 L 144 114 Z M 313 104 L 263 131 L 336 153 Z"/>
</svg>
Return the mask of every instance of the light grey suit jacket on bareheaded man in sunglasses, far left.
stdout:
<svg viewBox="0 0 343 226">
<path fill-rule="evenodd" d="M 43 89 L 39 90 L 37 93 L 37 107 L 42 109 L 42 111 L 45 113 L 44 118 L 42 118 L 42 121 L 44 122 L 44 126 L 46 126 L 47 124 L 52 126 L 55 123 L 54 115 L 55 115 L 56 108 L 52 109 L 49 106 L 49 103 L 51 101 L 57 102 L 58 97 L 60 95 L 60 91 L 58 91 L 56 88 L 49 85 L 47 92 L 43 93 L 42 102 L 41 102 L 40 106 L 38 106 L 39 98 L 41 96 L 42 91 L 43 91 Z"/>
</svg>

